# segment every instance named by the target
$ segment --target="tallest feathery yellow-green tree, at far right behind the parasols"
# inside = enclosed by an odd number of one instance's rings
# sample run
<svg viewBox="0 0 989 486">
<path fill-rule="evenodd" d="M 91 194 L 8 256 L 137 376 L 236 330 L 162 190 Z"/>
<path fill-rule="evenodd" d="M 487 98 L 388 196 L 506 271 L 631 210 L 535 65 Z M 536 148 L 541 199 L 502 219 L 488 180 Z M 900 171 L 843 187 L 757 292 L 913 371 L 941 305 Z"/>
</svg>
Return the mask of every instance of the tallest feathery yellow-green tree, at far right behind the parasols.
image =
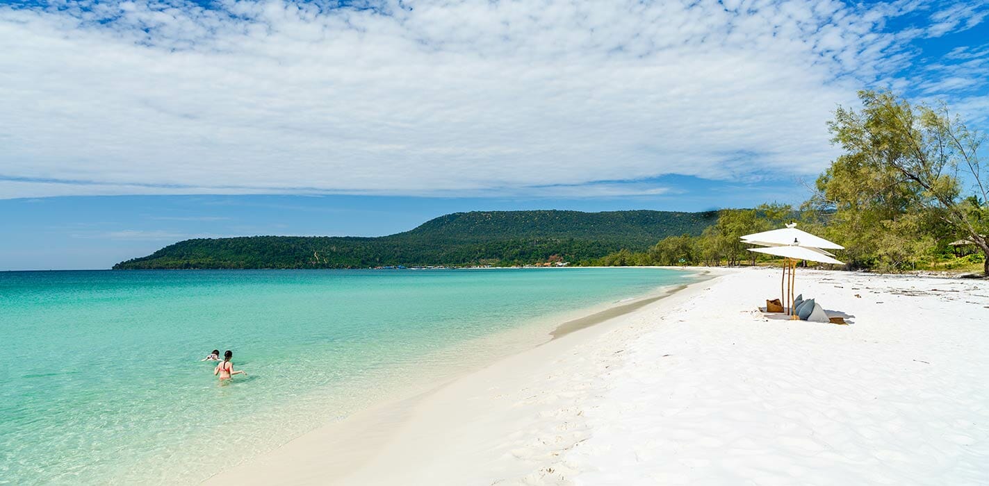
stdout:
<svg viewBox="0 0 989 486">
<path fill-rule="evenodd" d="M 831 215 L 849 258 L 900 265 L 917 248 L 901 251 L 890 238 L 924 241 L 920 235 L 960 235 L 989 256 L 989 175 L 978 158 L 984 137 L 944 105 L 911 105 L 889 92 L 858 98 L 861 111 L 839 108 L 828 123 L 845 153 L 818 178 L 810 202 Z M 989 276 L 989 259 L 983 271 Z"/>
</svg>

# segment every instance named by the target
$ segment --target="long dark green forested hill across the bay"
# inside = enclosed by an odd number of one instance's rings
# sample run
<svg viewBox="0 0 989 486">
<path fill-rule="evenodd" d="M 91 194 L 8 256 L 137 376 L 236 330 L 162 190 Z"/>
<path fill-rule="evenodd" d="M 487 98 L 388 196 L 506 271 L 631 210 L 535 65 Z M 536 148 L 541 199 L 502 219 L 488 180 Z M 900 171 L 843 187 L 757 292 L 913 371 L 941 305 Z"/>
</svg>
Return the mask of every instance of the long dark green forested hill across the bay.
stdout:
<svg viewBox="0 0 989 486">
<path fill-rule="evenodd" d="M 377 238 L 245 236 L 193 239 L 114 269 L 339 269 L 388 265 L 516 265 L 558 255 L 574 264 L 667 236 L 698 235 L 716 211 L 456 212 Z"/>
</svg>

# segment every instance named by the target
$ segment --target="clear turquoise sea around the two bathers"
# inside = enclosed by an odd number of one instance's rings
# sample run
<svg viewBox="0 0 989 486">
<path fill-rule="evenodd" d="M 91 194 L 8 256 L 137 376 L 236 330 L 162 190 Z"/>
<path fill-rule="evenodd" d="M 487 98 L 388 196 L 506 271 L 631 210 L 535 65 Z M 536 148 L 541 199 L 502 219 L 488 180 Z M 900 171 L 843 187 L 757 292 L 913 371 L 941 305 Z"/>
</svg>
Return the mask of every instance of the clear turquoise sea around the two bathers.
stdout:
<svg viewBox="0 0 989 486">
<path fill-rule="evenodd" d="M 508 350 L 485 341 L 499 333 L 690 279 L 660 269 L 0 273 L 0 483 L 196 482 L 444 370 L 485 364 Z M 199 362 L 215 348 L 248 375 L 220 385 L 215 364 Z"/>
</svg>

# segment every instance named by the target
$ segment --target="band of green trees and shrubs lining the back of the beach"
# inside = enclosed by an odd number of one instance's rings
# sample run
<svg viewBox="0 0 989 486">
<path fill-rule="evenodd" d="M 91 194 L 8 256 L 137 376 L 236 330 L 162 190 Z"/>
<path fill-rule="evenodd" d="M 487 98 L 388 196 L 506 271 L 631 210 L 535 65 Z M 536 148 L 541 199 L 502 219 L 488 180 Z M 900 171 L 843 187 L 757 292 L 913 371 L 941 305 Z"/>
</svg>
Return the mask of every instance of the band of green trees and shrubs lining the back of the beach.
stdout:
<svg viewBox="0 0 989 486">
<path fill-rule="evenodd" d="M 844 245 L 840 257 L 850 269 L 977 268 L 989 276 L 989 167 L 979 158 L 984 135 L 944 104 L 911 104 L 885 91 L 858 97 L 860 109 L 840 107 L 828 123 L 842 154 L 799 209 L 771 202 L 721 210 L 700 235 L 667 237 L 638 259 L 757 265 L 769 257 L 747 251 L 739 237 L 797 221 Z"/>
</svg>

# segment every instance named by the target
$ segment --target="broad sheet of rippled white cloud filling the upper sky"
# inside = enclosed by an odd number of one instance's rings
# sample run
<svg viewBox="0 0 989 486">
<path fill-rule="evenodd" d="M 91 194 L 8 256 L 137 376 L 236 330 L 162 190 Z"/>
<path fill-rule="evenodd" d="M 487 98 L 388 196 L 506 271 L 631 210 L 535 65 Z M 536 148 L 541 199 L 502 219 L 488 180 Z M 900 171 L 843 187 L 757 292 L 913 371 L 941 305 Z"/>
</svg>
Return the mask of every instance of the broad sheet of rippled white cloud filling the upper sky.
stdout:
<svg viewBox="0 0 989 486">
<path fill-rule="evenodd" d="M 806 176 L 836 104 L 908 61 L 879 32 L 903 2 L 222 5 L 0 8 L 0 198 Z"/>
</svg>

